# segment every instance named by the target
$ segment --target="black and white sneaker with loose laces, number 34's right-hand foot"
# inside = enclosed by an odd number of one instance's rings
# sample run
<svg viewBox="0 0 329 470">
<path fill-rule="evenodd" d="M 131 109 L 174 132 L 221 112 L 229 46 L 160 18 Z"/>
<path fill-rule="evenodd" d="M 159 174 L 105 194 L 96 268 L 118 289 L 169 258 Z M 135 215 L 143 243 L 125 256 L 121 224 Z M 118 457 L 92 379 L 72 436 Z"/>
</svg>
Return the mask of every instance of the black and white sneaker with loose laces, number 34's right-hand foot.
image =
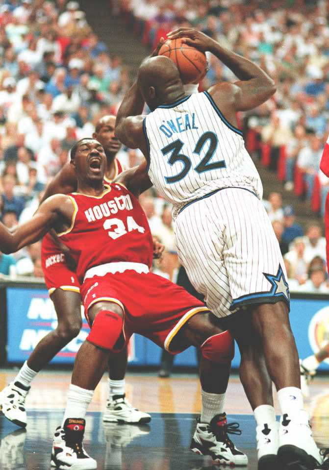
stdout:
<svg viewBox="0 0 329 470">
<path fill-rule="evenodd" d="M 200 422 L 200 417 L 197 422 L 190 445 L 192 452 L 210 455 L 213 461 L 221 464 L 248 465 L 247 455 L 238 450 L 228 437 L 228 434 L 241 434 L 237 422 L 228 424 L 226 413 L 214 416 L 209 424 Z"/>
</svg>

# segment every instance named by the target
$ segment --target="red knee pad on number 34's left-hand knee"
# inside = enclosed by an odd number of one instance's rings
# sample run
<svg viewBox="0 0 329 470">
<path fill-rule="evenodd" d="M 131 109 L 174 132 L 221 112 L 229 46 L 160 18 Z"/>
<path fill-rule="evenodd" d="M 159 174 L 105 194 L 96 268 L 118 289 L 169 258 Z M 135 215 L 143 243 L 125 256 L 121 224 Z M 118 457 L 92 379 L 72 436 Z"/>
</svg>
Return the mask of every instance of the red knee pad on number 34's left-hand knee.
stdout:
<svg viewBox="0 0 329 470">
<path fill-rule="evenodd" d="M 111 310 L 101 310 L 96 315 L 87 340 L 103 349 L 121 349 L 117 343 L 122 337 L 122 329 L 123 318 L 120 315 Z"/>
</svg>

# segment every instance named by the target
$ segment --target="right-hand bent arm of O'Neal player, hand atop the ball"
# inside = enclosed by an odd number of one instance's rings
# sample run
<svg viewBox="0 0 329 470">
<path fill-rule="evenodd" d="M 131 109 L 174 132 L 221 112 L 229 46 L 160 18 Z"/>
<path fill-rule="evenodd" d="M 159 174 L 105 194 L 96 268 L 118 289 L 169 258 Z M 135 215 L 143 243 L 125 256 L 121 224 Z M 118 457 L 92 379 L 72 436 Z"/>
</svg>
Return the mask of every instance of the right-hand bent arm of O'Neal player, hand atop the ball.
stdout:
<svg viewBox="0 0 329 470">
<path fill-rule="evenodd" d="M 203 52 L 209 51 L 223 62 L 240 81 L 233 83 L 219 83 L 208 91 L 216 104 L 222 104 L 226 99 L 236 111 L 247 111 L 259 106 L 269 99 L 275 92 L 274 80 L 269 77 L 258 65 L 223 48 L 206 34 L 194 28 L 181 27 L 168 34 L 170 39 L 184 37 L 186 44 Z"/>
</svg>

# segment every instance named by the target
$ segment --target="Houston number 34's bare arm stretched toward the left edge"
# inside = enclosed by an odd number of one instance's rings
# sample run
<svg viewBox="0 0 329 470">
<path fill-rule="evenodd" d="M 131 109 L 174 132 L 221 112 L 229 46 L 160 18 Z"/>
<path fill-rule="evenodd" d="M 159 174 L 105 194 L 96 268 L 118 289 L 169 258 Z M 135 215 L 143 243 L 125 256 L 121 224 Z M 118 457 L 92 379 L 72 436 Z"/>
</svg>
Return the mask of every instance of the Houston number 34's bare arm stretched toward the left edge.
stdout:
<svg viewBox="0 0 329 470">
<path fill-rule="evenodd" d="M 70 198 L 56 195 L 43 202 L 32 219 L 18 225 L 13 231 L 0 223 L 0 251 L 14 253 L 20 248 L 40 240 L 52 227 L 71 225 L 74 207 Z"/>
</svg>

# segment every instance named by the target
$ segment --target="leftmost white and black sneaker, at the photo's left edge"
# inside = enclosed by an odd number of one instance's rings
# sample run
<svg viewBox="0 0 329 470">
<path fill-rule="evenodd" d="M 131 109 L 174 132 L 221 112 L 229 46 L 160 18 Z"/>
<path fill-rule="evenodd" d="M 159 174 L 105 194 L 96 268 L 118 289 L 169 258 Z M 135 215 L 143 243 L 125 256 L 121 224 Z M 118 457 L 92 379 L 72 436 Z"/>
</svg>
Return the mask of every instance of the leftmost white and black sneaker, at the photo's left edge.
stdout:
<svg viewBox="0 0 329 470">
<path fill-rule="evenodd" d="M 30 387 L 24 387 L 20 382 L 11 382 L 0 392 L 0 409 L 4 416 L 18 426 L 27 424 L 25 398 Z"/>
</svg>

